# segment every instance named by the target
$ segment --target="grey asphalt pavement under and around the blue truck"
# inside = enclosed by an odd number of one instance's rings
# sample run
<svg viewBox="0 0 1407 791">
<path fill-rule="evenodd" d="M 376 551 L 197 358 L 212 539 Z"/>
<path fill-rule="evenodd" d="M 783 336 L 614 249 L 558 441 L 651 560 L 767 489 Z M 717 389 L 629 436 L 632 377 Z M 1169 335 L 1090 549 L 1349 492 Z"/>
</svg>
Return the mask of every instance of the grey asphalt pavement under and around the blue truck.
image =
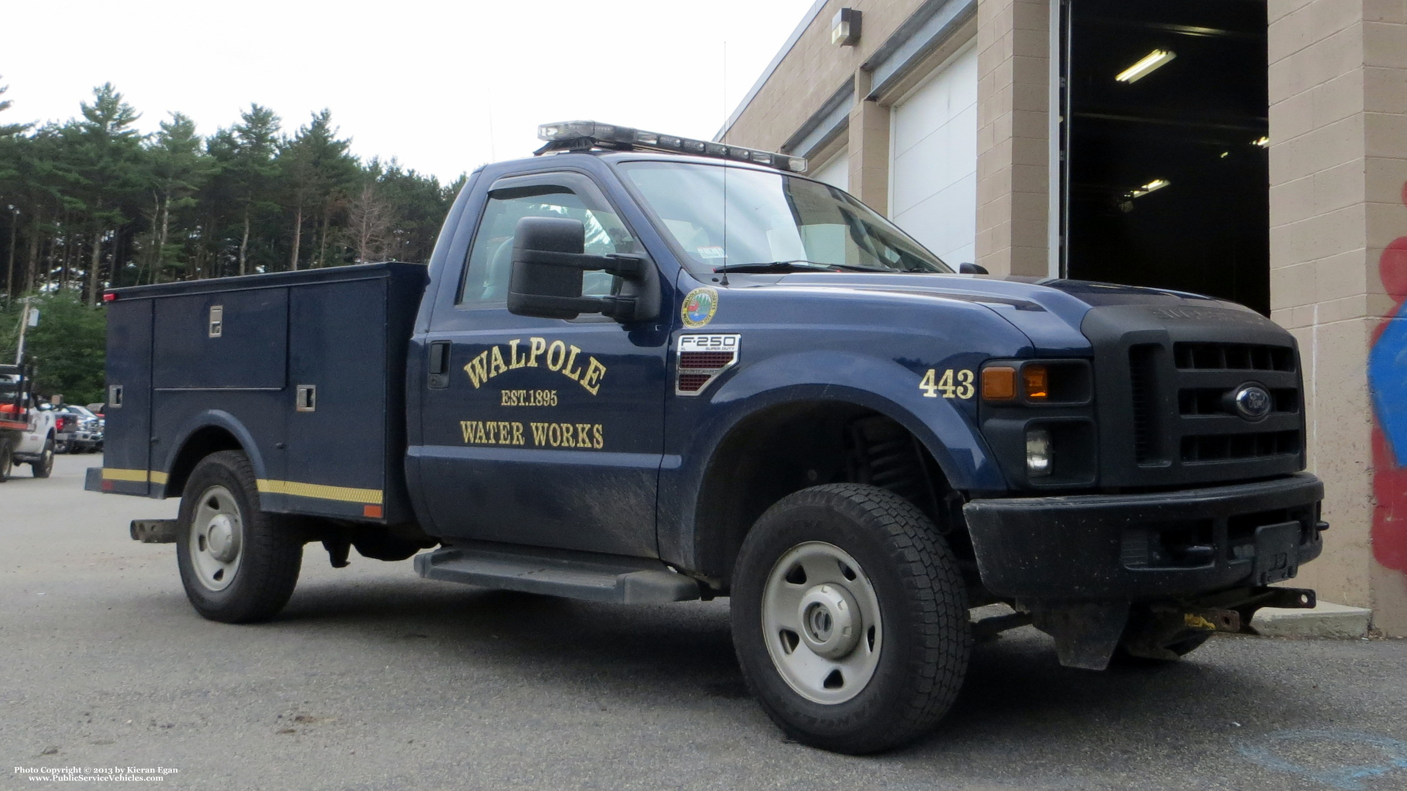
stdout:
<svg viewBox="0 0 1407 791">
<path fill-rule="evenodd" d="M 0 484 L 0 785 L 76 767 L 177 788 L 1407 788 L 1407 640 L 1218 636 L 1089 673 L 1017 629 L 976 647 L 929 739 L 836 756 L 747 697 L 726 600 L 494 593 L 310 546 L 279 619 L 203 621 L 173 545 L 127 535 L 176 501 L 84 493 L 100 463 Z"/>
</svg>

